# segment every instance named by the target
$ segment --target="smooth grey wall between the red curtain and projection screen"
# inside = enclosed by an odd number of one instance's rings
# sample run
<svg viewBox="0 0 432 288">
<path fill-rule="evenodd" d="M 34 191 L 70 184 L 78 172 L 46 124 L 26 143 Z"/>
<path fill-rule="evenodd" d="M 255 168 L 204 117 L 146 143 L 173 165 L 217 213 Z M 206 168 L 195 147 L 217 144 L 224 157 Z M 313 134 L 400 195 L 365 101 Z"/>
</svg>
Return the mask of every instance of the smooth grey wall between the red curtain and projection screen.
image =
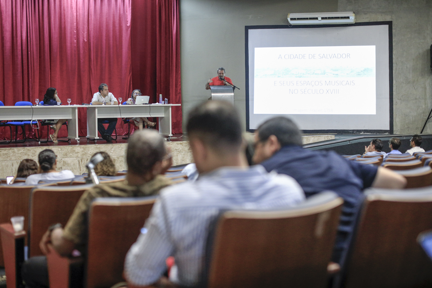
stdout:
<svg viewBox="0 0 432 288">
<path fill-rule="evenodd" d="M 245 121 L 245 25 L 287 25 L 288 13 L 331 11 L 337 0 L 181 0 L 183 125 L 191 108 L 210 97 L 204 86 L 221 66 L 241 89 L 235 106 Z"/>
</svg>

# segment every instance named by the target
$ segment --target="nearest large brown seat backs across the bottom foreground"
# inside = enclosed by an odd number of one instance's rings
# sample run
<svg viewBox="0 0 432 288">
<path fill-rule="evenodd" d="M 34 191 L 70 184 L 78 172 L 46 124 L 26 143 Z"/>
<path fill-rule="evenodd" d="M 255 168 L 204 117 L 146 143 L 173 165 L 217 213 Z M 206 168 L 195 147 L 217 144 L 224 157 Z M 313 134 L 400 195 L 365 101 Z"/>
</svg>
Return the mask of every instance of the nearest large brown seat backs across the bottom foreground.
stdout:
<svg viewBox="0 0 432 288">
<path fill-rule="evenodd" d="M 0 203 L 10 207 L 0 210 L 8 288 L 21 283 L 25 240 L 29 256 L 41 255 L 38 243 L 47 227 L 65 225 L 79 197 L 91 187 L 0 186 Z M 17 198 L 27 199 L 28 209 L 13 204 Z M 88 216 L 86 256 L 61 257 L 51 250 L 50 287 L 109 288 L 124 281 L 125 255 L 154 201 L 155 197 L 95 199 Z M 207 286 L 324 287 L 342 203 L 337 194 L 324 192 L 283 211 L 222 213 L 210 227 L 206 246 Z M 5 222 L 10 215 L 26 212 L 25 231 L 14 233 Z M 416 242 L 419 233 L 431 228 L 432 187 L 365 191 L 356 239 L 342 269 L 333 275 L 334 287 L 432 285 L 432 262 Z"/>
</svg>

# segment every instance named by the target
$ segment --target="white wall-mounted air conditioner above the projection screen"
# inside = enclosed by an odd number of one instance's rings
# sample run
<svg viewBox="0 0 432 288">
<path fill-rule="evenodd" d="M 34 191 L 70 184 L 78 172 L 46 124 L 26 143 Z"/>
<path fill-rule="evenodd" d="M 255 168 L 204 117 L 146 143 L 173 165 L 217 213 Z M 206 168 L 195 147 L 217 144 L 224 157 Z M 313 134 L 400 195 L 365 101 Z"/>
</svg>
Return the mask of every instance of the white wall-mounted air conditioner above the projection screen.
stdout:
<svg viewBox="0 0 432 288">
<path fill-rule="evenodd" d="M 292 25 L 311 24 L 354 24 L 354 12 L 327 12 L 327 13 L 289 13 L 288 22 Z"/>
</svg>

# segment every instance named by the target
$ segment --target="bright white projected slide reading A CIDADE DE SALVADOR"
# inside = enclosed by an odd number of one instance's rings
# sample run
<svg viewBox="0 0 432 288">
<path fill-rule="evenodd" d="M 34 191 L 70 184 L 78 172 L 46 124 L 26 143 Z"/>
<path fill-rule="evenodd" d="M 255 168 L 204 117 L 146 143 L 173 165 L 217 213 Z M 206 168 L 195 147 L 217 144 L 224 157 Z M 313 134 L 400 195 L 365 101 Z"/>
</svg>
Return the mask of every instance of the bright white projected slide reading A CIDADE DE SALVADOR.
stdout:
<svg viewBox="0 0 432 288">
<path fill-rule="evenodd" d="M 376 114 L 375 45 L 255 47 L 254 114 Z"/>
</svg>

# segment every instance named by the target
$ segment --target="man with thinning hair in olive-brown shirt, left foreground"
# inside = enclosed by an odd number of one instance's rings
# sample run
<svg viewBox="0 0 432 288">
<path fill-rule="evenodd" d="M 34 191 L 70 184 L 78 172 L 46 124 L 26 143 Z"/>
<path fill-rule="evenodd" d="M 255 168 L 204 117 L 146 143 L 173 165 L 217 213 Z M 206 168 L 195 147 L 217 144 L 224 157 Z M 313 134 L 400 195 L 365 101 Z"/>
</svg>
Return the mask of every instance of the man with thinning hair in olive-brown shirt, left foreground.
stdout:
<svg viewBox="0 0 432 288">
<path fill-rule="evenodd" d="M 127 144 L 126 179 L 121 182 L 99 184 L 87 190 L 79 199 L 64 229 L 52 225 L 39 244 L 44 254 L 48 244 L 60 255 L 68 256 L 74 249 L 85 251 L 88 229 L 87 213 L 92 200 L 98 197 L 142 197 L 156 195 L 172 182 L 162 174 L 171 166 L 171 156 L 166 153 L 165 141 L 152 130 L 136 131 Z M 27 287 L 49 287 L 46 256 L 35 256 L 22 266 L 22 279 Z"/>
</svg>

